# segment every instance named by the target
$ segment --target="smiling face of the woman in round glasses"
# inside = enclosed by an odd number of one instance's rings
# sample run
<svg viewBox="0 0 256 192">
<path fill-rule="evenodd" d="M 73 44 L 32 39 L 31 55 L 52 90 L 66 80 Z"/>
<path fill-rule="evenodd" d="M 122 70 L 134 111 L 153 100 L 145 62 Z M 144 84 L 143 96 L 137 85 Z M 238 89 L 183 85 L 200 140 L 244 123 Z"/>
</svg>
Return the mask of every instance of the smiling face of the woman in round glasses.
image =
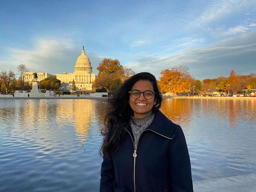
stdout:
<svg viewBox="0 0 256 192">
<path fill-rule="evenodd" d="M 147 80 L 139 80 L 133 86 L 132 90 L 138 90 L 139 92 L 152 91 L 154 92 L 153 85 L 150 81 Z M 154 103 L 156 102 L 155 94 L 151 99 L 144 98 L 143 93 L 140 94 L 138 99 L 129 98 L 130 107 L 133 110 L 134 117 L 143 117 L 147 115 L 150 110 L 153 108 Z"/>
</svg>

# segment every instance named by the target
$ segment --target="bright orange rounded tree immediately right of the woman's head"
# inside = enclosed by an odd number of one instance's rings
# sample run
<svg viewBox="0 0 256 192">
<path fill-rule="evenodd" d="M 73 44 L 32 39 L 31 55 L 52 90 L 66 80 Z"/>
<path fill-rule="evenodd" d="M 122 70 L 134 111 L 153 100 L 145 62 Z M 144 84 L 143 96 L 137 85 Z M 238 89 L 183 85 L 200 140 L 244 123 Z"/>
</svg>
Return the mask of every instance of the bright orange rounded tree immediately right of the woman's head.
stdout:
<svg viewBox="0 0 256 192">
<path fill-rule="evenodd" d="M 159 81 L 161 92 L 182 93 L 190 91 L 192 78 L 187 66 L 163 70 L 161 75 Z"/>
</svg>

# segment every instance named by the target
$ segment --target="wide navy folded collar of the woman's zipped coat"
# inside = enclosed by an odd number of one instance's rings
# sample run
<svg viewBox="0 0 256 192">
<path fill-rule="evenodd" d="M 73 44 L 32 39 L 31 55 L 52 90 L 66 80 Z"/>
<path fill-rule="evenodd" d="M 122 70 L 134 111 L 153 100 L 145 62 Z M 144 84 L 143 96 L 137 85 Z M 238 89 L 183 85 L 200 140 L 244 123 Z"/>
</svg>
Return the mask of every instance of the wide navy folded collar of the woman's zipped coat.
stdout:
<svg viewBox="0 0 256 192">
<path fill-rule="evenodd" d="M 151 130 L 156 134 L 160 134 L 166 138 L 172 139 L 174 137 L 174 123 L 169 120 L 160 110 L 156 110 L 155 117 L 150 126 L 145 130 Z M 131 134 L 132 130 L 128 126 L 127 131 Z M 131 134 L 132 135 L 132 134 Z"/>
</svg>

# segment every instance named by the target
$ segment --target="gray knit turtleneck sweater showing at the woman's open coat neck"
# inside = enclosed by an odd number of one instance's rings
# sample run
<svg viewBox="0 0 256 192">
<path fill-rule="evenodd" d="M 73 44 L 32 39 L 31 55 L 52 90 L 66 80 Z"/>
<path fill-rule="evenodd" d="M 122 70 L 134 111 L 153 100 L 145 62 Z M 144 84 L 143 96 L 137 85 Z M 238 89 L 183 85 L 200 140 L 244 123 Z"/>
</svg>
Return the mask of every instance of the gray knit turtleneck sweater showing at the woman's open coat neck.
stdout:
<svg viewBox="0 0 256 192">
<path fill-rule="evenodd" d="M 142 133 L 142 131 L 144 129 L 146 129 L 146 128 L 148 128 L 148 126 L 150 126 L 150 124 L 154 120 L 154 116 L 155 116 L 155 114 L 152 113 L 152 111 L 150 111 L 149 114 L 147 114 L 146 116 L 144 116 L 142 118 L 131 116 L 130 126 L 132 128 L 132 133 L 134 136 L 134 144 L 135 144 L 136 148 L 137 148 L 138 139 L 140 137 L 140 134 Z"/>
</svg>

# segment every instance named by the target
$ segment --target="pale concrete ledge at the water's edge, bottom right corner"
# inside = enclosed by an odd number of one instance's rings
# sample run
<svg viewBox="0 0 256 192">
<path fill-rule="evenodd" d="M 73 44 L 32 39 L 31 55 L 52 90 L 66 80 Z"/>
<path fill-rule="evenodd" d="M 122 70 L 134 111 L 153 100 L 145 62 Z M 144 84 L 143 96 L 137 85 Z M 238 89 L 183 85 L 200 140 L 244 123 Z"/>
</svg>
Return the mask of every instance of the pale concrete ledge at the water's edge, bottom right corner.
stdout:
<svg viewBox="0 0 256 192">
<path fill-rule="evenodd" d="M 194 192 L 256 192 L 256 173 L 193 182 Z"/>
</svg>

